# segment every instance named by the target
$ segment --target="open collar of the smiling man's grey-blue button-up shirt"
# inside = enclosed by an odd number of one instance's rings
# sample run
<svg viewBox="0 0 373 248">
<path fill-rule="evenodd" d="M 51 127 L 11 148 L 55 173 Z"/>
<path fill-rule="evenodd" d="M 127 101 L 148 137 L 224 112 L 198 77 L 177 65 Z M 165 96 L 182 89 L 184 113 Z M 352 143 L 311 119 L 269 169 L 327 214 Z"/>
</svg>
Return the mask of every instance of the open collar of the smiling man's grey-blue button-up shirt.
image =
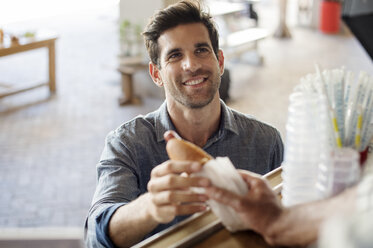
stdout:
<svg viewBox="0 0 373 248">
<path fill-rule="evenodd" d="M 238 127 L 234 118 L 232 109 L 229 108 L 222 100 L 220 100 L 221 106 L 221 123 L 218 130 L 218 138 L 222 137 L 225 130 L 229 130 L 238 135 Z M 164 141 L 163 134 L 167 130 L 176 130 L 174 124 L 167 111 L 166 101 L 162 103 L 155 115 L 155 132 L 157 136 L 157 142 Z"/>
</svg>

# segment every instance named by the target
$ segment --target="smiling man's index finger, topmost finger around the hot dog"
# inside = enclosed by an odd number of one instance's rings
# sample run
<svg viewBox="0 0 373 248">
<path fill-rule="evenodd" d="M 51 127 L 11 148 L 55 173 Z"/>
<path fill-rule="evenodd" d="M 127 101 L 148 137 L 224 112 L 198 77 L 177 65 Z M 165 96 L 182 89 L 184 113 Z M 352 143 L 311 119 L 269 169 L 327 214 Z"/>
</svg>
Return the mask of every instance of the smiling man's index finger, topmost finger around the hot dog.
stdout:
<svg viewBox="0 0 373 248">
<path fill-rule="evenodd" d="M 198 172 L 201 169 L 202 165 L 198 162 L 168 160 L 155 167 L 151 172 L 151 176 L 162 177 L 168 174 L 181 174 L 183 172 L 191 174 L 193 172 Z"/>
</svg>

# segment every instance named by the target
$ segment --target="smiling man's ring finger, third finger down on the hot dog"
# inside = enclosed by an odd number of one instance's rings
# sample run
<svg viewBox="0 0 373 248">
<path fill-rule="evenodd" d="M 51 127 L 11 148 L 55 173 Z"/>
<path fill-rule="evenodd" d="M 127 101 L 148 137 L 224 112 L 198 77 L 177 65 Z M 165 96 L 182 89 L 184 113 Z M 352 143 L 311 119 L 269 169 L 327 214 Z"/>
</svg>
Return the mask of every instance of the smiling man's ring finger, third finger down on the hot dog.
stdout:
<svg viewBox="0 0 373 248">
<path fill-rule="evenodd" d="M 203 194 L 191 193 L 187 191 L 162 191 L 153 196 L 153 203 L 156 205 L 180 204 L 191 202 L 205 202 L 208 197 Z"/>
</svg>

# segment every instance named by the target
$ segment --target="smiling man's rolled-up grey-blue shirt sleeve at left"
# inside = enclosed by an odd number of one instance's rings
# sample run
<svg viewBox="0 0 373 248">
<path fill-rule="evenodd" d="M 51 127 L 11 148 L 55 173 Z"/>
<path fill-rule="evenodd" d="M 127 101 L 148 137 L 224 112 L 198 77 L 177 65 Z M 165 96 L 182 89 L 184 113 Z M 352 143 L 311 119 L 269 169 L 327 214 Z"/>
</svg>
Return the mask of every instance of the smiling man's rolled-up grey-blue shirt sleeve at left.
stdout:
<svg viewBox="0 0 373 248">
<path fill-rule="evenodd" d="M 134 162 L 131 143 L 121 134 L 111 132 L 97 165 L 97 186 L 85 225 L 87 247 L 106 247 L 104 230 L 115 210 L 140 195 L 139 173 Z M 106 225 L 105 225 L 106 223 Z M 99 224 L 96 227 L 96 224 Z M 97 232 L 98 230 L 98 232 Z M 99 240 L 97 234 L 101 235 Z M 111 246 L 109 246 L 111 247 Z"/>
</svg>

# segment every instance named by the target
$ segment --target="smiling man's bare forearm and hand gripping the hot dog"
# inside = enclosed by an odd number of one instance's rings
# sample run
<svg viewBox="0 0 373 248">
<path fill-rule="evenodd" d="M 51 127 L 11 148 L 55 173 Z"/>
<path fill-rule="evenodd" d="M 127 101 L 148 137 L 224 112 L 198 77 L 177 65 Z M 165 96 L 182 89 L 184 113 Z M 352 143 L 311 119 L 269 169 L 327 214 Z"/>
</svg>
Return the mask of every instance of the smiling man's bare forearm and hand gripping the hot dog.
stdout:
<svg viewBox="0 0 373 248">
<path fill-rule="evenodd" d="M 119 247 L 140 241 L 160 223 L 168 223 L 178 215 L 204 211 L 206 195 L 196 194 L 190 187 L 206 187 L 206 178 L 181 176 L 198 172 L 202 165 L 187 161 L 166 161 L 155 167 L 148 183 L 148 193 L 117 209 L 109 222 L 109 236 Z"/>
</svg>

